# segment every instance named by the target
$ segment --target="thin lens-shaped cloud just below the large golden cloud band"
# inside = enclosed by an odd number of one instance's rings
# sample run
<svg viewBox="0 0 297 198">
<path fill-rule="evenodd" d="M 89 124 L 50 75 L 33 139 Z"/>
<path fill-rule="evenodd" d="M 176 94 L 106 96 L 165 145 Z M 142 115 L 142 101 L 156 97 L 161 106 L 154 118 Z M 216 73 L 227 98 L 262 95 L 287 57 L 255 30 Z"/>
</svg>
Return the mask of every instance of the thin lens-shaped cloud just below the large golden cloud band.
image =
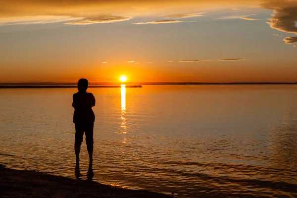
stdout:
<svg viewBox="0 0 297 198">
<path fill-rule="evenodd" d="M 114 23 L 120 21 L 130 20 L 132 17 L 124 16 L 98 16 L 94 18 L 84 18 L 77 21 L 67 22 L 67 25 L 90 25 L 95 23 Z"/>
</svg>

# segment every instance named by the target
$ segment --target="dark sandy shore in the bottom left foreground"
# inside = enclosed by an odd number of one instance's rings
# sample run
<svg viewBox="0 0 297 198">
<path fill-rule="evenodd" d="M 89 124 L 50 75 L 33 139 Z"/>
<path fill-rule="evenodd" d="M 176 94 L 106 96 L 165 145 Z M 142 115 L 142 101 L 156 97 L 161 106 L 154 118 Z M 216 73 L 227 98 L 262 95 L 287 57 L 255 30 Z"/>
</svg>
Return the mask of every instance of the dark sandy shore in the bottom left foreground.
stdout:
<svg viewBox="0 0 297 198">
<path fill-rule="evenodd" d="M 173 198 L 0 165 L 0 198 Z"/>
</svg>

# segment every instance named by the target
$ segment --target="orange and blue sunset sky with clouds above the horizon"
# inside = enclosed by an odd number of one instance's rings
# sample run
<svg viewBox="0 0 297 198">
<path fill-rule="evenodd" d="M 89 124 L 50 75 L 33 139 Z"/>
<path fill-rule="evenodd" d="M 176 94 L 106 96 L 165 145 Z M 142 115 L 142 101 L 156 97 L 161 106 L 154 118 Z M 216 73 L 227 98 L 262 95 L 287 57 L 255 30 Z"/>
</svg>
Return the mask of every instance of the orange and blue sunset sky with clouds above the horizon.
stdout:
<svg viewBox="0 0 297 198">
<path fill-rule="evenodd" d="M 0 0 L 0 83 L 297 82 L 297 0 Z"/>
</svg>

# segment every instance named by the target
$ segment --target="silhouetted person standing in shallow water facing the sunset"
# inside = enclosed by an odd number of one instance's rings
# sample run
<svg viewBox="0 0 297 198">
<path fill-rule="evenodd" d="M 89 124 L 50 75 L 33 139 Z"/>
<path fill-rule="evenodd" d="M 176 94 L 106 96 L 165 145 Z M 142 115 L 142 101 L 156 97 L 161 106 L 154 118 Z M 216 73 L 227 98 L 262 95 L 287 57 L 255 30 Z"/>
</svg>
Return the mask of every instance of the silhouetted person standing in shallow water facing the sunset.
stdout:
<svg viewBox="0 0 297 198">
<path fill-rule="evenodd" d="M 77 84 L 78 92 L 73 95 L 72 106 L 74 107 L 73 122 L 75 124 L 75 144 L 76 170 L 79 172 L 79 153 L 83 142 L 84 133 L 86 135 L 87 149 L 89 153 L 89 167 L 93 166 L 93 130 L 95 114 L 92 107 L 96 100 L 92 93 L 87 93 L 89 82 L 87 79 L 80 79 Z"/>
</svg>

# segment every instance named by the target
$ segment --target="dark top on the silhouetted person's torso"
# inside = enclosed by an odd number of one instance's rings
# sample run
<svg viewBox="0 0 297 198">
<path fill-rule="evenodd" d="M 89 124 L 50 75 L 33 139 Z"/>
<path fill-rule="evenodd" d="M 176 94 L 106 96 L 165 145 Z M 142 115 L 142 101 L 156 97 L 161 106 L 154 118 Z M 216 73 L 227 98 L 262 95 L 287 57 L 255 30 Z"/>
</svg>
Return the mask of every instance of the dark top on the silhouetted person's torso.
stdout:
<svg viewBox="0 0 297 198">
<path fill-rule="evenodd" d="M 74 123 L 95 122 L 95 114 L 92 107 L 95 106 L 95 97 L 92 93 L 78 92 L 73 95 Z"/>
</svg>

